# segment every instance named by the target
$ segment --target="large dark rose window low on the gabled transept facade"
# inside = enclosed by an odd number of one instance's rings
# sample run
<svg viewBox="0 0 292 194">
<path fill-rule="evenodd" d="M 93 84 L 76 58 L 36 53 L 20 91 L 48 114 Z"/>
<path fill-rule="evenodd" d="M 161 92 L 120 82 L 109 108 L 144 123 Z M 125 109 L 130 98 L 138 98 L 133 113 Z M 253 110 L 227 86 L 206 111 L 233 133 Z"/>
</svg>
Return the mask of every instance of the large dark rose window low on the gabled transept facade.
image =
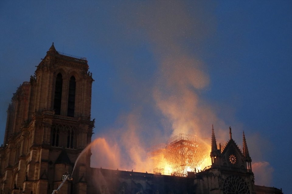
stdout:
<svg viewBox="0 0 292 194">
<path fill-rule="evenodd" d="M 223 192 L 224 194 L 248 194 L 249 186 L 239 176 L 231 175 L 228 176 L 223 184 Z"/>
</svg>

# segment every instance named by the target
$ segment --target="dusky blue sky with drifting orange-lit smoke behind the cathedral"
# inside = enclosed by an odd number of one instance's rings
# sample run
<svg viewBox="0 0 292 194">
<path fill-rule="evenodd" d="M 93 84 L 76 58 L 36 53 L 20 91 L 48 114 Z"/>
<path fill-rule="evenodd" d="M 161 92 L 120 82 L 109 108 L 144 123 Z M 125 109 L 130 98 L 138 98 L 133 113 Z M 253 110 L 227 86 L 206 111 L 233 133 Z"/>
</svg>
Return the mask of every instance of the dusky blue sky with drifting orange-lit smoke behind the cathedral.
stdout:
<svg viewBox="0 0 292 194">
<path fill-rule="evenodd" d="M 91 166 L 149 171 L 149 149 L 173 135 L 210 143 L 214 124 L 224 147 L 231 126 L 239 147 L 245 131 L 255 183 L 289 193 L 291 10 L 291 1 L 0 1 L 0 142 L 12 93 L 54 42 L 86 57 L 95 79 Z"/>
</svg>

